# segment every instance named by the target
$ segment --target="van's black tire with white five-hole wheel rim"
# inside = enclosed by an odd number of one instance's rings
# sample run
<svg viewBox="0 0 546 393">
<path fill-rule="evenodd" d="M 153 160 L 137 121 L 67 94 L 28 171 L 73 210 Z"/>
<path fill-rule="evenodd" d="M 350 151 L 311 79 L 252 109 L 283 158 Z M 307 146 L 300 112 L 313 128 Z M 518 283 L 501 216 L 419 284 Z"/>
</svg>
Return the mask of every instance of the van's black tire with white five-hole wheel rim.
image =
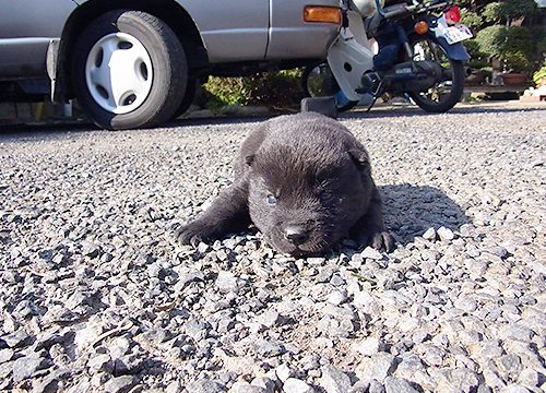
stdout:
<svg viewBox="0 0 546 393">
<path fill-rule="evenodd" d="M 78 39 L 72 66 L 81 108 L 106 129 L 157 126 L 186 95 L 182 45 L 165 22 L 145 12 L 116 10 L 93 21 Z"/>
</svg>

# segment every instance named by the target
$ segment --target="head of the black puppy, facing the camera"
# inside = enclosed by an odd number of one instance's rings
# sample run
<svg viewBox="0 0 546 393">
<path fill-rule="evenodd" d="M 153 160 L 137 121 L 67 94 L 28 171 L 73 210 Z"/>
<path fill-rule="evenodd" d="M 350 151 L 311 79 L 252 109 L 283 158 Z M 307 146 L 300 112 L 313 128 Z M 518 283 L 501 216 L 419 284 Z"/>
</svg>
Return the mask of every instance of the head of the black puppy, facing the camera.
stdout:
<svg viewBox="0 0 546 393">
<path fill-rule="evenodd" d="M 247 157 L 250 217 L 281 252 L 327 251 L 348 236 L 369 204 L 366 151 L 340 123 L 322 117 L 288 117 L 270 127 L 269 138 Z"/>
</svg>

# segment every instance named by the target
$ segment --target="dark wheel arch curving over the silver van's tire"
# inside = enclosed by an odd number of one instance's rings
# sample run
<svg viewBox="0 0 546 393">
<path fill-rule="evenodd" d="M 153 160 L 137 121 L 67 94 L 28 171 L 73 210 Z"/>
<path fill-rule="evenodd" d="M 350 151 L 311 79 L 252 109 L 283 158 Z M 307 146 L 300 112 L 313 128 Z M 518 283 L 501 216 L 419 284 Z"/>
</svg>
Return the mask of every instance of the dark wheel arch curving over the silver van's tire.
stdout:
<svg viewBox="0 0 546 393">
<path fill-rule="evenodd" d="M 83 31 L 102 14 L 114 10 L 136 10 L 159 17 L 175 32 L 183 45 L 190 75 L 209 67 L 201 34 L 188 12 L 174 0 L 90 0 L 78 7 L 67 21 L 58 49 L 55 102 L 73 98 L 71 58 Z"/>
</svg>

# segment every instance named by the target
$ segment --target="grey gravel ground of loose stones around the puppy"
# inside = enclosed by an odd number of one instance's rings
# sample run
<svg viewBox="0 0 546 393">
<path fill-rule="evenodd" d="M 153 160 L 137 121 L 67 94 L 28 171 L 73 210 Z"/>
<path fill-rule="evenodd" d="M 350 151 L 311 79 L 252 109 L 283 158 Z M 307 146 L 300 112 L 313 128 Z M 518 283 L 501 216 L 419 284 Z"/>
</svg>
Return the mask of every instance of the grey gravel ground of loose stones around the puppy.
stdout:
<svg viewBox="0 0 546 393">
<path fill-rule="evenodd" d="M 376 108 L 397 248 L 294 260 L 173 231 L 259 119 L 0 134 L 0 390 L 546 391 L 546 106 Z"/>
</svg>

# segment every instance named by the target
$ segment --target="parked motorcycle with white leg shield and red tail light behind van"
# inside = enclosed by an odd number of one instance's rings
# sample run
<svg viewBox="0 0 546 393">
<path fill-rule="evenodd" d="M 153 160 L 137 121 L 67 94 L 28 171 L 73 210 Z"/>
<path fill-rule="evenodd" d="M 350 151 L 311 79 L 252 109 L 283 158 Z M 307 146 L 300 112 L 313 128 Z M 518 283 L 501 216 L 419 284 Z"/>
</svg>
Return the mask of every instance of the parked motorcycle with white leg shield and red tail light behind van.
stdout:
<svg viewBox="0 0 546 393">
<path fill-rule="evenodd" d="M 472 32 L 450 3 L 342 0 L 342 28 L 327 62 L 304 70 L 305 94 L 333 96 L 340 111 L 366 96 L 369 110 L 387 93 L 408 96 L 426 111 L 451 109 L 463 93 L 470 56 L 462 41 Z"/>
</svg>

